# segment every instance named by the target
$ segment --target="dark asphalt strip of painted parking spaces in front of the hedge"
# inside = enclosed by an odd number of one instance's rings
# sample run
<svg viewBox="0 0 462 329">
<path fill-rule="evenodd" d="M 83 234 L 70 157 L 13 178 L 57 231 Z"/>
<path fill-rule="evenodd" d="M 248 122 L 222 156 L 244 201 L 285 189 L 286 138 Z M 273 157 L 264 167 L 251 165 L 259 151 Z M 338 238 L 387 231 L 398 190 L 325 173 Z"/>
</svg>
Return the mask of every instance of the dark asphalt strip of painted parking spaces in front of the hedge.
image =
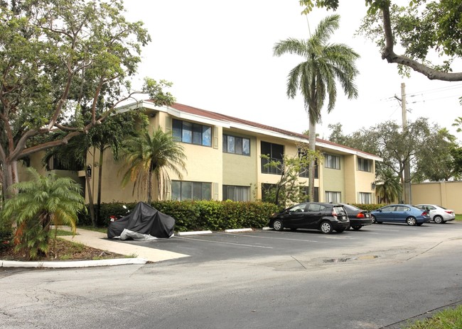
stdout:
<svg viewBox="0 0 462 329">
<path fill-rule="evenodd" d="M 406 224 L 374 224 L 361 230 L 348 230 L 343 233 L 325 235 L 317 230 L 296 231 L 253 230 L 252 232 L 197 234 L 173 236 L 169 239 L 151 241 L 125 241 L 135 245 L 153 247 L 189 255 L 180 260 L 168 262 L 205 262 L 211 260 L 230 260 L 251 257 L 278 255 L 300 255 L 306 252 L 328 250 L 350 250 L 363 254 L 384 249 L 385 246 L 399 248 L 401 243 L 414 240 L 419 243 L 436 242 L 448 234 L 462 235 L 462 223 L 425 223 L 419 227 Z M 335 254 L 335 252 L 334 252 Z M 340 255 L 339 255 L 340 257 Z"/>
</svg>

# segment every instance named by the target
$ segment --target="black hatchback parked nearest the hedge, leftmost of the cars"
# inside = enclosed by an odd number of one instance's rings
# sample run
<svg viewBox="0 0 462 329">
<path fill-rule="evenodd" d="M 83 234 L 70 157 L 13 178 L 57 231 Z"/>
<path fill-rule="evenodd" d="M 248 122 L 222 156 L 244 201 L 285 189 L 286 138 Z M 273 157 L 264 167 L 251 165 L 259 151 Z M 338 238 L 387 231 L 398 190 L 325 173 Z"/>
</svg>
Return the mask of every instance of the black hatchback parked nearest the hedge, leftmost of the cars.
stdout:
<svg viewBox="0 0 462 329">
<path fill-rule="evenodd" d="M 348 214 L 341 204 L 306 202 L 274 213 L 269 218 L 269 227 L 274 230 L 284 228 L 314 228 L 322 233 L 333 230 L 343 232 L 350 225 Z"/>
</svg>

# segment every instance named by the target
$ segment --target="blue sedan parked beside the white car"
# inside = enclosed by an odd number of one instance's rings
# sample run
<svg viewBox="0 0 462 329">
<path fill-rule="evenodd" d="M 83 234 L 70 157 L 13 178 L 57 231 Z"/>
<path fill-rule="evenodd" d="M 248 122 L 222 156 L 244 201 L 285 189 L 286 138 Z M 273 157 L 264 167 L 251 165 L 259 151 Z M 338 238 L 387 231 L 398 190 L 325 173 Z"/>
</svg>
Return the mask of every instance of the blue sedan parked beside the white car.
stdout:
<svg viewBox="0 0 462 329">
<path fill-rule="evenodd" d="M 410 204 L 390 204 L 375 211 L 371 211 L 372 221 L 375 223 L 407 223 L 420 226 L 431 220 L 428 211 L 411 206 Z"/>
</svg>

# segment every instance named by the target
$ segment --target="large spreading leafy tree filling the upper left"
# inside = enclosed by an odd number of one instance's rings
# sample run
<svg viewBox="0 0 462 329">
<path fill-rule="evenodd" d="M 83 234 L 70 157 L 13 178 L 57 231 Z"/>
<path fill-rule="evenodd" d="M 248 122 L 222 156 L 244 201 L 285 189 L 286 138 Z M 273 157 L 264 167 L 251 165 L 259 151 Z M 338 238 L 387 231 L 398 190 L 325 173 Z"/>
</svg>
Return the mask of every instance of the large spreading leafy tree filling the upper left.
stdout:
<svg viewBox="0 0 462 329">
<path fill-rule="evenodd" d="M 0 162 L 5 189 L 18 182 L 18 160 L 65 145 L 136 92 L 129 79 L 149 41 L 143 23 L 124 18 L 122 0 L 0 1 Z M 156 87 L 146 79 L 140 91 L 155 93 Z M 85 108 L 81 99 L 87 100 Z M 104 111 L 97 113 L 99 104 Z M 89 111 L 90 121 L 70 124 L 78 122 L 83 111 Z M 56 131 L 62 133 L 58 139 L 38 138 Z"/>
</svg>

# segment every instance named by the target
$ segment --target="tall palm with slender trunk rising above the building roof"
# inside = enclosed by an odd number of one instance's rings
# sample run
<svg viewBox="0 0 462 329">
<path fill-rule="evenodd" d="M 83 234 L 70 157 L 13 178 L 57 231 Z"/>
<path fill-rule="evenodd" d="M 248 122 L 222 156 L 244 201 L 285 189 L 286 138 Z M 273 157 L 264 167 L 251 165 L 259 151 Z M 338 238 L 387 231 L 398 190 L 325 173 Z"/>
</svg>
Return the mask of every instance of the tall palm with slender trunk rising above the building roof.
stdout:
<svg viewBox="0 0 462 329">
<path fill-rule="evenodd" d="M 304 61 L 291 69 L 287 77 L 287 96 L 294 99 L 301 92 L 309 120 L 309 147 L 315 150 L 316 123 L 321 122 L 321 109 L 328 98 L 327 112 L 330 113 L 337 99 L 335 80 L 340 82 L 348 99 L 358 97 L 354 79 L 358 74 L 355 60 L 360 57 L 352 48 L 339 43 L 328 43 L 334 30 L 339 27 L 340 16 L 332 15 L 319 23 L 308 40 L 289 38 L 274 45 L 275 56 L 286 52 L 300 55 Z M 309 200 L 314 194 L 314 160 L 308 172 Z"/>
</svg>

